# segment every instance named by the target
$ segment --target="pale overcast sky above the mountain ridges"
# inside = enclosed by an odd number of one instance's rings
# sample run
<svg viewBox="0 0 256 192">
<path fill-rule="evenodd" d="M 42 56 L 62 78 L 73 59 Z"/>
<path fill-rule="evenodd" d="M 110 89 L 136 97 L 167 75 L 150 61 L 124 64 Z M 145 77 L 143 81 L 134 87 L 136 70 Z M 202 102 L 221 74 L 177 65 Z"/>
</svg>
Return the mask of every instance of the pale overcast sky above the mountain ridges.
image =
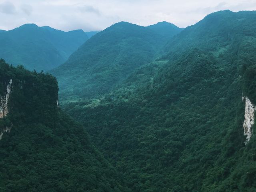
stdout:
<svg viewBox="0 0 256 192">
<path fill-rule="evenodd" d="M 35 23 L 69 31 L 103 30 L 120 21 L 186 27 L 219 10 L 256 10 L 256 0 L 0 0 L 0 29 Z"/>
</svg>

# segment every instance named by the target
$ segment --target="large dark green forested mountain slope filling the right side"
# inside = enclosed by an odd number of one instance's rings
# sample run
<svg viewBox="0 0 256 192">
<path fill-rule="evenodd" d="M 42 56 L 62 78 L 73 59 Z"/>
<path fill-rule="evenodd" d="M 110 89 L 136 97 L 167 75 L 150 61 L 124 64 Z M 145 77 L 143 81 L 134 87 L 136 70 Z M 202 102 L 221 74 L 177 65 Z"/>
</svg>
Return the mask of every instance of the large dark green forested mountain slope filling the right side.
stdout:
<svg viewBox="0 0 256 192">
<path fill-rule="evenodd" d="M 63 108 L 133 192 L 253 192 L 255 50 L 255 11 L 216 12 L 170 39 L 162 56 L 145 59 L 104 98 Z"/>
</svg>

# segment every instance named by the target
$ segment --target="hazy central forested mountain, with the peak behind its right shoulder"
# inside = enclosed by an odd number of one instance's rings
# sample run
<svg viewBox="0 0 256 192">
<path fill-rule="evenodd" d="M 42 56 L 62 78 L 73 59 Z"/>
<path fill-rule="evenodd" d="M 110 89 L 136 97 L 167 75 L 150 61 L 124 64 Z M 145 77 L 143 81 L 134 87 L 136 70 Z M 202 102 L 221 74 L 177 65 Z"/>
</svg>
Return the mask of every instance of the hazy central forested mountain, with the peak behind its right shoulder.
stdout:
<svg viewBox="0 0 256 192">
<path fill-rule="evenodd" d="M 120 22 L 90 38 L 51 71 L 58 79 L 61 99 L 93 98 L 110 92 L 136 68 L 156 58 L 160 48 L 181 30 L 170 23 L 150 28 Z"/>
</svg>

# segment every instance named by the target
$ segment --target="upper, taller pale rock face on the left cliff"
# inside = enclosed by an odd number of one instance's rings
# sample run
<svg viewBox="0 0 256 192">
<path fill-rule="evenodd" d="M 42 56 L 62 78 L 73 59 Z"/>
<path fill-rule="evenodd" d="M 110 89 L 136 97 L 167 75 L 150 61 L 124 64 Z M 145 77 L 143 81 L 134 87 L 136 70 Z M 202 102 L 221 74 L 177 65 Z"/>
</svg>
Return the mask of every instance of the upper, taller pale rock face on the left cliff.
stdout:
<svg viewBox="0 0 256 192">
<path fill-rule="evenodd" d="M 7 84 L 6 94 L 0 96 L 0 118 L 3 118 L 8 114 L 8 100 L 12 91 L 12 79 Z"/>
</svg>

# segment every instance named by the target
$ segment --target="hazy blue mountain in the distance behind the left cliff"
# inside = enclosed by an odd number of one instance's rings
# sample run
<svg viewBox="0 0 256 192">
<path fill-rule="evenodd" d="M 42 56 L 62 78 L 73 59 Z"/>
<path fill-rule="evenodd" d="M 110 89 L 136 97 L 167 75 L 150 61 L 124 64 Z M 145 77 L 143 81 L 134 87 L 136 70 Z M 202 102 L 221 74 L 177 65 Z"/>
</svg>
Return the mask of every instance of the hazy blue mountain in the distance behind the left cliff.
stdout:
<svg viewBox="0 0 256 192">
<path fill-rule="evenodd" d="M 64 63 L 86 40 L 88 36 L 82 30 L 64 32 L 25 24 L 0 32 L 0 58 L 28 70 L 46 71 Z"/>
</svg>

